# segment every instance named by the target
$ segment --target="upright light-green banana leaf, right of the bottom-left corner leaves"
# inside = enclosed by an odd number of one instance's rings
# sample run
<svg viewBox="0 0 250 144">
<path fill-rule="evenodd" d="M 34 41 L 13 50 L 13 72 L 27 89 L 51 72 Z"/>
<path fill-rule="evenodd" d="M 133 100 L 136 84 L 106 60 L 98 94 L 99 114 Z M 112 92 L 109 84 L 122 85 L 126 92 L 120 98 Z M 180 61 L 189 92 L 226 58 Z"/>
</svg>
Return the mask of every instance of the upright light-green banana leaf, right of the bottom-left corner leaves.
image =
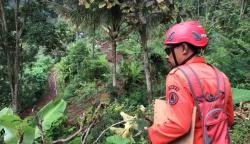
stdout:
<svg viewBox="0 0 250 144">
<path fill-rule="evenodd" d="M 49 102 L 38 112 L 38 118 L 42 121 L 43 130 L 46 132 L 51 125 L 63 117 L 66 102 L 62 99 Z M 40 137 L 40 130 L 36 127 L 35 138 Z"/>
</svg>

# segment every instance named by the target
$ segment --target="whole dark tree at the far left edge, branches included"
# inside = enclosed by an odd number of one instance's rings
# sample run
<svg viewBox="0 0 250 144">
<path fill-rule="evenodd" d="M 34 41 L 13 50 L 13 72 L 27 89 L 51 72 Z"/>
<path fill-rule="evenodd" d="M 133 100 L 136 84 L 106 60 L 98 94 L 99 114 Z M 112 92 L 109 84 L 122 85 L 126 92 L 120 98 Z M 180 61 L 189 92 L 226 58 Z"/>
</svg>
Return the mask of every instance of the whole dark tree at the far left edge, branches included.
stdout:
<svg viewBox="0 0 250 144">
<path fill-rule="evenodd" d="M 20 2 L 22 2 L 22 9 L 24 11 L 24 15 L 20 15 Z M 7 21 L 6 17 L 6 9 L 5 6 L 12 7 L 11 1 L 3 1 L 0 2 L 1 9 L 1 26 L 2 26 L 2 38 L 3 41 L 1 46 L 4 49 L 6 55 L 6 66 L 8 73 L 8 81 L 10 86 L 10 94 L 12 100 L 12 108 L 13 111 L 18 113 L 20 101 L 19 101 L 19 90 L 20 90 L 20 69 L 21 69 L 21 49 L 22 46 L 20 44 L 21 35 L 24 29 L 24 23 L 26 20 L 26 10 L 29 4 L 29 0 L 15 0 L 14 1 L 14 12 L 9 12 L 9 15 L 14 14 L 14 20 L 11 22 Z M 14 35 L 11 34 L 12 31 L 15 31 Z"/>
</svg>

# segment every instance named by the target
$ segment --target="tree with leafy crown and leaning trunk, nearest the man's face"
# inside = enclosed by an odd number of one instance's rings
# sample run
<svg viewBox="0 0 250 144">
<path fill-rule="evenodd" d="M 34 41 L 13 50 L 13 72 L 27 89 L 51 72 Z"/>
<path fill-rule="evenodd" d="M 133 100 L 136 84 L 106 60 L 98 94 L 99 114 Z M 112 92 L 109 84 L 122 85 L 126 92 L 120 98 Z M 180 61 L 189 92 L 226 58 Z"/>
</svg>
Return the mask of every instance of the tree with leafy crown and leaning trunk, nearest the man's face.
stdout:
<svg viewBox="0 0 250 144">
<path fill-rule="evenodd" d="M 147 83 L 148 103 L 152 103 L 152 82 L 150 73 L 148 30 L 159 23 L 169 22 L 172 3 L 168 0 L 127 0 L 123 12 L 128 22 L 138 31 L 143 50 L 144 72 Z"/>
</svg>

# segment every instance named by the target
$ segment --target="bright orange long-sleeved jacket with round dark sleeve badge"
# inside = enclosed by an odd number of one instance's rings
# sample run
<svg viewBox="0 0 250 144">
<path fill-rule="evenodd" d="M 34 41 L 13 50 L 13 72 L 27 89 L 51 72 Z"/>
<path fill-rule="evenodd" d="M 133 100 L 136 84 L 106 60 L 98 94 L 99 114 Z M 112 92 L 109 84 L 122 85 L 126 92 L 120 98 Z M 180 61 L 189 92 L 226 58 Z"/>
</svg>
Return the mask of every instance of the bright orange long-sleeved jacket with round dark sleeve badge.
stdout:
<svg viewBox="0 0 250 144">
<path fill-rule="evenodd" d="M 195 70 L 199 79 L 202 80 L 203 90 L 206 93 L 216 95 L 218 90 L 216 75 L 213 68 L 206 63 L 204 58 L 195 56 L 184 65 L 189 65 Z M 223 74 L 223 78 L 225 82 L 224 98 L 226 100 L 224 110 L 227 115 L 228 125 L 231 126 L 234 122 L 232 92 L 230 82 L 225 74 Z M 172 142 L 186 134 L 190 129 L 195 102 L 187 79 L 185 79 L 183 73 L 178 68 L 171 70 L 167 76 L 166 102 L 169 104 L 169 110 L 172 115 L 168 117 L 166 123 L 153 125 L 148 128 L 148 136 L 153 144 Z M 200 111 L 202 112 L 202 109 Z M 194 144 L 202 144 L 202 126 L 198 114 L 196 114 L 195 123 Z"/>
</svg>

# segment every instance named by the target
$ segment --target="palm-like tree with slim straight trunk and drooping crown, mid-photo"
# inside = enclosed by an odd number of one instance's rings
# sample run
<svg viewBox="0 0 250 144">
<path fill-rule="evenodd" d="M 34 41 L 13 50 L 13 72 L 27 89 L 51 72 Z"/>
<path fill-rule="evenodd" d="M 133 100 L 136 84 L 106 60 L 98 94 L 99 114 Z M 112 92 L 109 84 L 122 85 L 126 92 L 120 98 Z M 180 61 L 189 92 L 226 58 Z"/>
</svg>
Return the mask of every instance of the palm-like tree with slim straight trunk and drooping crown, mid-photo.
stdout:
<svg viewBox="0 0 250 144">
<path fill-rule="evenodd" d="M 121 11 L 122 0 L 79 0 L 79 3 L 85 5 L 86 8 L 101 9 L 102 19 L 101 26 L 109 37 L 112 47 L 112 86 L 116 89 L 116 47 L 117 42 L 124 39 L 131 30 L 128 30 L 128 25 L 124 21 L 124 16 Z M 96 7 L 98 6 L 98 7 Z"/>
</svg>

